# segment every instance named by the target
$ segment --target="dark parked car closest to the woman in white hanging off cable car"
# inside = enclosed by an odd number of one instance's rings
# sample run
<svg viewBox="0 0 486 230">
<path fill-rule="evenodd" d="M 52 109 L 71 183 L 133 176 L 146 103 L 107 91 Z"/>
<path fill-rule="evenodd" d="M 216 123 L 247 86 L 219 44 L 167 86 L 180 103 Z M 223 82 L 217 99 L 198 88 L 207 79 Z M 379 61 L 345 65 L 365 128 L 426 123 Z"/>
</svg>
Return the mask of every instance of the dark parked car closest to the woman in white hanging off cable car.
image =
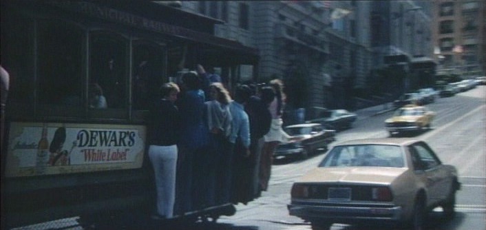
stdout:
<svg viewBox="0 0 486 230">
<path fill-rule="evenodd" d="M 290 135 L 288 143 L 277 145 L 274 157 L 301 156 L 307 158 L 317 149 L 328 149 L 328 144 L 335 140 L 335 130 L 324 129 L 319 123 L 288 125 L 284 131 Z"/>
</svg>

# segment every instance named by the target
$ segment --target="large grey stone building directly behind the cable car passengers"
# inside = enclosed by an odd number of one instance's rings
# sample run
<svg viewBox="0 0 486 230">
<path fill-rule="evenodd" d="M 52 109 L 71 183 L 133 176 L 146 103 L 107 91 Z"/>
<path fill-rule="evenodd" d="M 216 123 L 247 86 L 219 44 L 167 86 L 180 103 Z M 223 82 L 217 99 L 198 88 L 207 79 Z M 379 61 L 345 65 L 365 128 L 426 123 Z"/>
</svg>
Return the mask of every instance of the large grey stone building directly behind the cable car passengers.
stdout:
<svg viewBox="0 0 486 230">
<path fill-rule="evenodd" d="M 182 10 L 224 21 L 215 25 L 216 36 L 259 50 L 257 76 L 249 79 L 283 79 L 288 108 L 304 107 L 308 118 L 315 107 L 352 107 L 352 90 L 366 87 L 372 67 L 367 1 L 180 3 Z"/>
</svg>

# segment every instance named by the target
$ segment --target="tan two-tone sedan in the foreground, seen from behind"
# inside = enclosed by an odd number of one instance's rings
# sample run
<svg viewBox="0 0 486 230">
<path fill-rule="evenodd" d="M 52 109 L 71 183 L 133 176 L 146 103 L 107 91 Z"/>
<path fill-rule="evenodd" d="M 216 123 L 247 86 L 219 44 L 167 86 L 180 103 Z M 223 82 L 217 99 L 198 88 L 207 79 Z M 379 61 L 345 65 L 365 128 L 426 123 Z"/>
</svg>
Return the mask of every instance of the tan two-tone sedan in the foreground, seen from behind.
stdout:
<svg viewBox="0 0 486 230">
<path fill-rule="evenodd" d="M 287 207 L 312 229 L 332 223 L 423 229 L 434 207 L 447 219 L 454 216 L 459 189 L 456 167 L 421 140 L 348 140 L 294 182 Z"/>
</svg>

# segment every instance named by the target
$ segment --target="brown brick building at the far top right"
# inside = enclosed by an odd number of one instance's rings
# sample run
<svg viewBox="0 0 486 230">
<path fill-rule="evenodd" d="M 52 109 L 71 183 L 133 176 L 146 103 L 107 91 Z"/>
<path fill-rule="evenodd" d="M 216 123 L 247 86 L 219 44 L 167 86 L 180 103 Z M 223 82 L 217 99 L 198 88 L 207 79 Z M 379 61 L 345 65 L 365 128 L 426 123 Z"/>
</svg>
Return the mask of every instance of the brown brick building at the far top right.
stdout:
<svg viewBox="0 0 486 230">
<path fill-rule="evenodd" d="M 433 10 L 440 74 L 484 75 L 485 2 L 434 1 Z"/>
</svg>

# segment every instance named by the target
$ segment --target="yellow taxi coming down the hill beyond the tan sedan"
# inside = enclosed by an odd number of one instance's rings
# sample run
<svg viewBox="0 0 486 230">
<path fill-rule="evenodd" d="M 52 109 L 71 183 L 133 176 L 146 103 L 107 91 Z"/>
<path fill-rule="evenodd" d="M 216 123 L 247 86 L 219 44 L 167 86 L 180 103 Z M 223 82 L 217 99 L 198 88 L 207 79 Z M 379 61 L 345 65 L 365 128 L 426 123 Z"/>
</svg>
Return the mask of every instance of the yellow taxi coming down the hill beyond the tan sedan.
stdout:
<svg viewBox="0 0 486 230">
<path fill-rule="evenodd" d="M 385 121 L 390 136 L 403 132 L 416 132 L 430 128 L 436 113 L 420 105 L 405 105 Z"/>
</svg>

